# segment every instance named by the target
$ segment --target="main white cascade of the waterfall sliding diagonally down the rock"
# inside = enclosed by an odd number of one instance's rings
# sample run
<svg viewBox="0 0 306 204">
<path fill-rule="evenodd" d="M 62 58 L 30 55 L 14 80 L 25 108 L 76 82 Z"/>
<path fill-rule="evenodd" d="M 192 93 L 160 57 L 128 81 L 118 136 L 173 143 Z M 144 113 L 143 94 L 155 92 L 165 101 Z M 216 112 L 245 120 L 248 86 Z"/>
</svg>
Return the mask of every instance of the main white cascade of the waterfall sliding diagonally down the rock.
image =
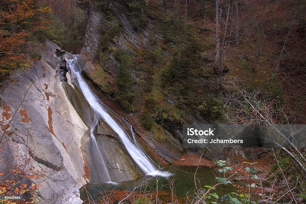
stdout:
<svg viewBox="0 0 306 204">
<path fill-rule="evenodd" d="M 74 59 L 67 60 L 67 66 L 71 70 L 71 75 L 74 83 L 80 88 L 84 97 L 88 101 L 95 115 L 101 117 L 113 130 L 116 132 L 121 139 L 121 142 L 124 144 L 126 150 L 129 152 L 132 159 L 136 164 L 142 169 L 144 173 L 151 176 L 170 176 L 168 172 L 162 172 L 156 169 L 152 164 L 148 156 L 141 150 L 141 147 L 136 141 L 132 126 L 128 124 L 131 133 L 132 140 L 129 139 L 129 135 L 124 131 L 124 129 L 118 124 L 116 120 L 111 117 L 109 114 L 109 108 L 91 91 L 90 87 L 83 79 L 81 75 L 80 65 L 77 63 L 77 57 L 74 56 Z M 94 135 L 92 134 L 93 129 L 98 124 L 99 117 L 94 117 L 94 123 L 91 127 L 91 137 L 95 140 Z M 122 121 L 121 121 L 122 122 Z M 96 144 L 97 145 L 97 144 Z M 98 147 L 98 145 L 97 145 Z M 102 155 L 101 155 L 102 156 Z M 102 158 L 103 160 L 103 158 Z M 106 170 L 107 171 L 107 170 Z M 108 176 L 109 178 L 109 176 Z"/>
</svg>

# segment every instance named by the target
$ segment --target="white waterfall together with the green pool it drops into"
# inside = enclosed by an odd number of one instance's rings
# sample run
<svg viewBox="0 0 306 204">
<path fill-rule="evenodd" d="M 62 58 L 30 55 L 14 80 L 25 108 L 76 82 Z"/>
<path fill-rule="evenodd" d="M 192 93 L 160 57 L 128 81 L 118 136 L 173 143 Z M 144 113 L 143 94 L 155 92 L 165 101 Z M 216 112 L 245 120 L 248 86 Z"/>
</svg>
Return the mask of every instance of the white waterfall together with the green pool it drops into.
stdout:
<svg viewBox="0 0 306 204">
<path fill-rule="evenodd" d="M 194 197 L 194 195 L 196 195 L 196 189 L 199 190 L 205 185 L 215 185 L 216 171 L 207 167 L 200 167 L 196 170 L 196 167 L 170 165 L 167 167 L 168 172 L 158 172 L 159 175 L 166 175 L 165 177 L 154 177 L 156 174 L 155 172 L 157 172 L 157 168 L 136 141 L 132 126 L 128 124 L 120 115 L 115 113 L 102 101 L 100 101 L 93 91 L 91 91 L 90 87 L 81 75 L 81 68 L 76 59 L 77 56 L 74 56 L 74 59 L 67 60 L 67 66 L 70 68 L 73 82 L 80 89 L 84 95 L 84 98 L 88 102 L 88 105 L 91 107 L 84 112 L 87 112 L 85 115 L 87 115 L 87 119 L 89 119 L 87 122 L 90 123 L 91 127 L 91 140 L 95 142 L 95 145 L 93 145 L 96 147 L 95 153 L 99 153 L 99 155 L 95 154 L 93 158 L 98 158 L 98 162 L 95 163 L 101 164 L 92 169 L 99 169 L 99 171 L 91 172 L 95 173 L 91 176 L 95 175 L 96 178 L 94 180 L 109 181 L 106 183 L 87 184 L 83 186 L 80 189 L 80 198 L 84 200 L 83 203 L 115 204 L 120 202 L 120 200 L 123 198 L 132 199 L 129 202 L 123 203 L 136 203 L 138 199 L 144 199 L 137 202 L 140 204 L 148 203 L 146 202 L 146 199 L 152 200 L 153 197 L 155 197 L 154 199 L 156 203 L 174 203 L 174 199 L 177 201 L 181 200 L 179 203 L 188 203 L 188 201 L 183 201 L 184 198 Z M 69 89 L 67 89 L 67 92 L 69 92 L 68 90 Z M 70 97 L 73 98 L 73 95 L 70 95 Z M 76 102 L 76 99 L 73 101 Z M 73 104 L 75 105 L 75 103 Z M 88 115 L 88 113 L 90 114 Z M 103 119 L 103 121 L 106 122 L 106 124 L 108 124 L 119 136 L 122 144 L 125 146 L 125 149 L 131 158 L 135 161 L 138 167 L 147 174 L 146 176 L 140 177 L 133 181 L 126 181 L 118 184 L 110 182 L 109 172 L 104 165 L 103 155 L 101 154 L 101 150 L 96 144 L 96 140 L 93 135 L 93 130 L 97 126 L 99 118 Z M 114 118 L 119 119 L 120 122 L 116 121 Z M 123 128 L 121 125 L 125 126 L 126 128 Z M 129 129 L 129 131 L 126 132 L 125 129 Z M 196 177 L 194 176 L 195 172 L 197 172 Z M 153 176 L 148 175 L 152 175 L 152 173 L 154 174 Z M 231 184 L 220 185 L 215 191 L 219 191 L 218 195 L 225 195 L 229 192 L 235 191 L 235 187 Z"/>
</svg>

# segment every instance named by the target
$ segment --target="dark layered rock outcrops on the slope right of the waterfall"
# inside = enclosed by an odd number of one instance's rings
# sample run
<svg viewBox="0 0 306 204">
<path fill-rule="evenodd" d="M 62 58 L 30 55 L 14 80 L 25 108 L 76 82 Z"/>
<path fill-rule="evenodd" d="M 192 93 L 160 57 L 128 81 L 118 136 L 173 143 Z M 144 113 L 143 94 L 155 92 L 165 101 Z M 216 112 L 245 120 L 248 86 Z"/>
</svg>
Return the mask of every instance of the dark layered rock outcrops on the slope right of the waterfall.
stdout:
<svg viewBox="0 0 306 204">
<path fill-rule="evenodd" d="M 150 20 L 147 19 L 146 25 L 144 28 L 139 28 L 138 31 L 133 28 L 132 24 L 129 21 L 127 15 L 127 8 L 124 4 L 120 3 L 120 1 L 110 1 L 110 5 L 108 7 L 115 13 L 115 19 L 119 20 L 119 24 L 122 27 L 122 31 L 118 34 L 118 36 L 114 37 L 112 40 L 114 41 L 113 45 L 111 45 L 109 49 L 120 49 L 130 51 L 131 49 L 143 49 L 145 51 L 151 51 L 156 49 L 156 47 L 152 46 L 152 38 L 155 40 L 163 40 L 162 35 L 157 32 L 156 28 L 154 28 L 153 24 L 151 24 Z M 104 17 L 103 17 L 104 16 Z M 97 82 L 96 78 L 93 77 L 93 72 L 96 69 L 95 67 L 97 61 L 95 56 L 99 53 L 99 43 L 100 39 L 105 35 L 105 33 L 110 29 L 110 23 L 107 22 L 107 17 L 103 11 L 91 7 L 89 23 L 87 25 L 86 34 L 84 37 L 84 47 L 81 50 L 81 54 L 78 57 L 78 63 L 81 65 L 84 74 L 97 85 L 97 88 L 101 88 L 103 86 L 101 83 Z M 99 29 L 98 29 L 99 28 Z M 153 35 L 153 37 L 152 37 Z M 128 48 L 129 47 L 129 48 Z M 121 52 L 123 52 L 121 51 Z M 132 53 L 129 53 L 133 55 Z M 112 53 L 106 54 L 107 60 L 102 61 L 99 59 L 99 63 L 102 66 L 103 72 L 106 73 L 106 78 L 110 81 L 114 81 L 116 76 L 118 75 L 118 70 L 120 66 L 120 62 L 115 59 Z M 100 68 L 101 69 L 101 68 Z M 132 77 L 134 80 L 140 80 L 139 76 L 135 73 L 135 70 L 132 70 Z M 104 82 L 103 82 L 104 83 Z M 112 84 L 113 86 L 113 84 Z M 109 95 L 103 92 L 103 88 L 101 96 L 104 97 L 104 100 L 114 99 Z M 171 106 L 175 106 L 177 103 L 177 99 L 171 98 L 167 96 L 167 103 Z M 165 128 L 165 138 L 159 139 L 158 134 L 154 134 L 151 131 L 145 131 L 139 122 L 139 113 L 129 113 L 124 108 L 122 108 L 118 104 L 114 104 L 112 100 L 110 103 L 115 107 L 119 107 L 121 109 L 121 115 L 124 116 L 127 120 L 133 121 L 136 120 L 134 128 L 136 133 L 140 135 L 141 139 L 145 141 L 145 143 L 154 150 L 155 153 L 158 154 L 163 160 L 172 162 L 177 160 L 183 154 L 182 148 L 182 124 L 178 121 L 170 121 L 165 120 L 162 117 L 158 117 L 155 119 L 156 123 L 160 124 L 163 128 Z M 183 109 L 181 109 L 184 112 Z M 187 113 L 185 112 L 187 117 L 187 121 L 189 124 L 203 124 L 210 123 L 212 120 L 210 118 L 203 118 L 199 114 Z M 135 117 L 134 117 L 135 116 Z M 136 118 L 136 119 L 135 119 Z M 135 121 L 134 121 L 135 122 Z M 211 155 L 212 156 L 212 155 Z"/>
</svg>

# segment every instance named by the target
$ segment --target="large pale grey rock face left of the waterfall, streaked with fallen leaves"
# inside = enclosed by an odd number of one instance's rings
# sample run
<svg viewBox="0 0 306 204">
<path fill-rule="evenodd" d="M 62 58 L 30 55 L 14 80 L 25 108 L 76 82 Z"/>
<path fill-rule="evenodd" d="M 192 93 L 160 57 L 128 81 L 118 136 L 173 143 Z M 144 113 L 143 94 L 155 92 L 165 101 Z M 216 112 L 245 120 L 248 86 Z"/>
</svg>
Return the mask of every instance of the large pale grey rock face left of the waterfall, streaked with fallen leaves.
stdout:
<svg viewBox="0 0 306 204">
<path fill-rule="evenodd" d="M 8 172 L 6 165 L 22 164 L 26 155 L 29 165 L 45 172 L 42 178 L 31 181 L 43 184 L 39 203 L 52 203 L 56 195 L 58 203 L 81 204 L 79 187 L 87 181 L 82 177 L 80 139 L 88 128 L 69 103 L 57 74 L 60 61 L 55 52 L 59 47 L 50 41 L 46 45 L 47 49 L 41 50 L 42 58 L 23 72 L 13 72 L 4 84 L 9 88 L 1 92 L 1 104 L 5 101 L 13 113 L 20 107 L 8 118 L 13 120 L 7 131 L 14 134 L 6 135 L 3 154 L 10 161 L 1 158 L 4 165 L 0 165 L 0 171 Z M 0 113 L 3 111 L 1 106 Z"/>
</svg>

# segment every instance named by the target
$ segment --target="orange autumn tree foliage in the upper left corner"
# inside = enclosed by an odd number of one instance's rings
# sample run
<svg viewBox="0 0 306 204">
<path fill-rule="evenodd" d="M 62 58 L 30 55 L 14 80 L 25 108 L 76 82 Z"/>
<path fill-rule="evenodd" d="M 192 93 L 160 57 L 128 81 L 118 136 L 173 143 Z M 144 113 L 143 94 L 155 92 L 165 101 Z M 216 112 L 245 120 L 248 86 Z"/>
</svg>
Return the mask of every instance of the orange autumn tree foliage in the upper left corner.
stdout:
<svg viewBox="0 0 306 204">
<path fill-rule="evenodd" d="M 0 73 L 27 67 L 25 44 L 35 32 L 48 28 L 51 9 L 35 0 L 3 0 L 0 11 Z"/>
</svg>

